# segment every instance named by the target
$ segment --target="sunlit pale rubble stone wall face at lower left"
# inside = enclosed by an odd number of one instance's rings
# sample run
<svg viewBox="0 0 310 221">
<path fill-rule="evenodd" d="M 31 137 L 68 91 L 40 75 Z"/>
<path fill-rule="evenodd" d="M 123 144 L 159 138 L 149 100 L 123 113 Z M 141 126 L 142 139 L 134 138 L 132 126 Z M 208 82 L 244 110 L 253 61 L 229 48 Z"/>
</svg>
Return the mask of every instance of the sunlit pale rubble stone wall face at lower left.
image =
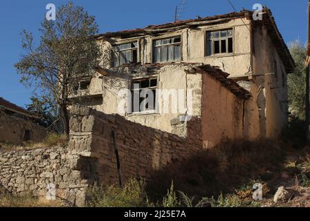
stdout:
<svg viewBox="0 0 310 221">
<path fill-rule="evenodd" d="M 58 198 L 83 205 L 87 180 L 81 178 L 81 168 L 79 156 L 65 147 L 0 152 L 0 187 L 44 198 L 48 184 L 54 184 Z"/>
</svg>

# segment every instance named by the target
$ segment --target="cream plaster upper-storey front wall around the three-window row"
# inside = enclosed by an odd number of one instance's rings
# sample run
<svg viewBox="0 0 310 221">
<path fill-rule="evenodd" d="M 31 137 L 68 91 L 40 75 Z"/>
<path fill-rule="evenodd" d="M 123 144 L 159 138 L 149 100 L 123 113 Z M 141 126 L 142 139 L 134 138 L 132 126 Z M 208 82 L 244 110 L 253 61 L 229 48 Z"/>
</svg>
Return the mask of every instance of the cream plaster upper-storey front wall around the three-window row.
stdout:
<svg viewBox="0 0 310 221">
<path fill-rule="evenodd" d="M 231 74 L 231 77 L 244 76 L 251 70 L 251 35 L 249 32 L 250 21 L 248 19 L 232 19 L 217 24 L 200 24 L 197 28 L 183 28 L 182 30 L 173 30 L 169 32 L 158 33 L 154 35 L 145 35 L 127 39 L 126 37 L 112 37 L 111 39 L 101 39 L 98 44 L 103 48 L 105 58 L 101 59 L 101 66 L 110 68 L 112 64 L 113 44 L 124 44 L 130 41 L 138 42 L 138 61 L 141 64 L 153 63 L 153 41 L 167 37 L 180 36 L 182 39 L 182 59 L 183 62 L 202 62 L 212 66 L 219 66 L 225 72 Z M 234 53 L 222 55 L 205 55 L 206 32 L 223 29 L 234 30 Z"/>
</svg>

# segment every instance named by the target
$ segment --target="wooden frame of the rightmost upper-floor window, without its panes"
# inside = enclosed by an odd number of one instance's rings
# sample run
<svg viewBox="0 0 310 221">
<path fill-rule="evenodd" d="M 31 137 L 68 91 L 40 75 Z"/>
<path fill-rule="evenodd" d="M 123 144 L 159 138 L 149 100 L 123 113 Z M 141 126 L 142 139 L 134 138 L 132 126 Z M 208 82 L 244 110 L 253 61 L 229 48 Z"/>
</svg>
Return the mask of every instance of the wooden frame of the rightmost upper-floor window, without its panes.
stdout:
<svg viewBox="0 0 310 221">
<path fill-rule="evenodd" d="M 221 31 L 228 31 L 231 30 L 231 36 L 228 36 L 228 32 L 227 32 L 227 36 L 226 37 L 220 37 L 220 32 Z M 218 32 L 218 37 L 214 38 L 211 37 L 211 55 L 208 55 L 208 33 L 210 33 L 212 35 L 212 33 L 214 32 Z M 234 51 L 235 51 L 235 38 L 234 38 L 234 28 L 223 28 L 223 29 L 216 29 L 216 30 L 205 30 L 205 57 L 218 57 L 218 56 L 225 56 L 225 55 L 233 55 Z M 231 50 L 232 52 L 229 52 L 229 39 L 231 39 L 232 41 L 232 45 L 231 45 Z M 221 46 L 221 41 L 226 40 L 226 52 L 221 52 L 222 46 Z M 214 41 L 218 41 L 219 42 L 219 52 L 218 53 L 214 53 Z"/>
</svg>

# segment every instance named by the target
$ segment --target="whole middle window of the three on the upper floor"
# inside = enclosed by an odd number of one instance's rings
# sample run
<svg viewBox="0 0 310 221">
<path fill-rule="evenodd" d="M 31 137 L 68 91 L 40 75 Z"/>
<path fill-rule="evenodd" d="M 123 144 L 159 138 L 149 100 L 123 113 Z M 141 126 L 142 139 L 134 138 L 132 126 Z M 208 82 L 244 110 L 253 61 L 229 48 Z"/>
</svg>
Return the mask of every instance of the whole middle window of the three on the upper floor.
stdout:
<svg viewBox="0 0 310 221">
<path fill-rule="evenodd" d="M 180 36 L 154 41 L 154 63 L 165 61 L 178 61 L 181 57 Z"/>
</svg>

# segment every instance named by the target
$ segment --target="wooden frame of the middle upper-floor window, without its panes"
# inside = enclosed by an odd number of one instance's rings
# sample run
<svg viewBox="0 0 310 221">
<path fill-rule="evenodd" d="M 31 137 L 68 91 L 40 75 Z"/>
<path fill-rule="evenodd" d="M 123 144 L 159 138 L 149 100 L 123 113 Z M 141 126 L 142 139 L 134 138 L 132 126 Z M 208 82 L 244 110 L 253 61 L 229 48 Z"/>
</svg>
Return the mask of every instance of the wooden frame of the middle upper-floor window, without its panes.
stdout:
<svg viewBox="0 0 310 221">
<path fill-rule="evenodd" d="M 156 46 L 156 41 L 158 40 L 165 40 L 165 39 L 173 39 L 173 38 L 180 38 L 180 42 L 175 42 L 175 43 L 171 43 L 171 44 L 162 44 L 160 46 Z M 169 60 L 169 46 L 176 46 L 179 45 L 180 46 L 180 57 L 178 59 L 175 59 L 175 52 L 174 52 L 174 59 L 173 60 Z M 167 47 L 167 61 L 155 61 L 155 49 L 156 48 L 162 48 L 162 47 Z M 162 54 L 161 54 L 162 56 Z M 170 37 L 159 37 L 156 39 L 152 39 L 152 63 L 167 63 L 167 62 L 178 62 L 178 61 L 182 61 L 182 57 L 183 57 L 183 38 L 182 35 L 173 35 Z"/>
</svg>

